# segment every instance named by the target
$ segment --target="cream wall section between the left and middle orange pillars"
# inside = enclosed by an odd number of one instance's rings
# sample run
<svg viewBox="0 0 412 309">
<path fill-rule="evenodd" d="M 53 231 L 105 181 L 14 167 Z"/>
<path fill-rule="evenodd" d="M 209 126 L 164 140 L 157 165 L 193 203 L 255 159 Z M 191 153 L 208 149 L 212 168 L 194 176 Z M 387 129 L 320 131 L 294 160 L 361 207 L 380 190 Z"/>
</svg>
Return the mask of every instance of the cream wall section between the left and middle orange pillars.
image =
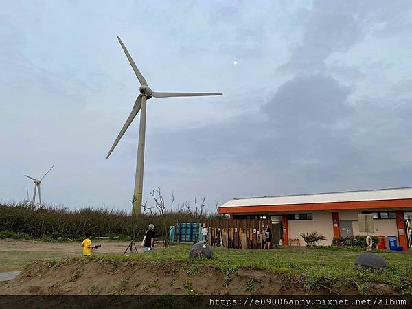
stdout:
<svg viewBox="0 0 412 309">
<path fill-rule="evenodd" d="M 306 242 L 301 238 L 300 234 L 316 231 L 326 238 L 326 240 L 321 240 L 319 244 L 329 246 L 333 240 L 332 213 L 328 211 L 313 211 L 312 215 L 313 220 L 288 221 L 289 238 L 298 238 L 301 246 L 306 246 Z"/>
</svg>

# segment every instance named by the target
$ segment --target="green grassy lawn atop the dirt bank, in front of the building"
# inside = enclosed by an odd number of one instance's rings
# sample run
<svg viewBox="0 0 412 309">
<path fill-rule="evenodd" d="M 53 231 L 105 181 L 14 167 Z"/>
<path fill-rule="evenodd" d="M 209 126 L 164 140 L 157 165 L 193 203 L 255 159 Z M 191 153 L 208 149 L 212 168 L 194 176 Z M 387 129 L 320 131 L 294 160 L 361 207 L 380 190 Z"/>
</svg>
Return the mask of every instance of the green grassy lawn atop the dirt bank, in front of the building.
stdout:
<svg viewBox="0 0 412 309">
<path fill-rule="evenodd" d="M 231 284 L 231 276 L 240 268 L 253 268 L 282 275 L 285 288 L 300 286 L 308 291 L 327 289 L 330 293 L 340 294 L 345 288 L 358 290 L 360 293 L 376 293 L 382 285 L 391 286 L 402 295 L 412 295 L 412 260 L 408 254 L 391 251 L 376 251 L 387 261 L 387 267 L 381 272 L 355 271 L 354 261 L 362 249 L 340 249 L 338 247 L 288 247 L 275 250 L 237 250 L 214 248 L 211 260 L 189 260 L 188 245 L 172 245 L 146 254 L 137 255 L 100 255 L 90 259 L 69 258 L 56 263 L 83 260 L 100 260 L 116 265 L 121 262 L 142 260 L 155 265 L 164 262 L 183 262 L 194 273 L 194 265 L 211 264 L 226 275 L 224 285 Z M 54 263 L 55 265 L 55 263 Z M 190 291 L 190 282 L 184 287 Z M 253 290 L 255 281 L 249 279 L 244 290 Z M 193 292 L 195 293 L 195 292 Z"/>
</svg>

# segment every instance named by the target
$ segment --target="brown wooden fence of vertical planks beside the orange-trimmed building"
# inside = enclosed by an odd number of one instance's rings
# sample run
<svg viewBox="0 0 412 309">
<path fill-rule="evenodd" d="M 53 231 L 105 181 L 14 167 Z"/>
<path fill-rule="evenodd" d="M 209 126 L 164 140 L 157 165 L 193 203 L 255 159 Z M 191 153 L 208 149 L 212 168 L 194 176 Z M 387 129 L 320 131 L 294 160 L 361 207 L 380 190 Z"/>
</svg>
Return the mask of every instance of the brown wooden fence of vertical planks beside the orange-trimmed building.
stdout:
<svg viewBox="0 0 412 309">
<path fill-rule="evenodd" d="M 282 237 L 282 224 L 270 220 L 206 220 L 209 229 L 209 244 L 236 249 L 262 249 L 263 229 L 268 226 L 272 231 L 272 247 Z M 220 233 L 219 233 L 220 229 Z"/>
</svg>

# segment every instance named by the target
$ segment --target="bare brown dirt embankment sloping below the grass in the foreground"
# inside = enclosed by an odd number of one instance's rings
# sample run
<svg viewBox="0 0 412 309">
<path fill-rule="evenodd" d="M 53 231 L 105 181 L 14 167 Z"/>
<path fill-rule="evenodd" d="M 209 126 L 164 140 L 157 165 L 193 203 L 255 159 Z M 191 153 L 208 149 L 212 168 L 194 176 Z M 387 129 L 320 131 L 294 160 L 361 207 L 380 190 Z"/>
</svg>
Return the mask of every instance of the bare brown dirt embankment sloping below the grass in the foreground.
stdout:
<svg viewBox="0 0 412 309">
<path fill-rule="evenodd" d="M 385 287 L 385 294 L 393 290 Z M 66 264 L 34 262 L 16 279 L 0 286 L 0 295 L 325 295 L 282 274 L 253 269 L 222 271 L 214 266 L 107 260 Z M 358 294 L 345 288 L 339 294 Z"/>
</svg>

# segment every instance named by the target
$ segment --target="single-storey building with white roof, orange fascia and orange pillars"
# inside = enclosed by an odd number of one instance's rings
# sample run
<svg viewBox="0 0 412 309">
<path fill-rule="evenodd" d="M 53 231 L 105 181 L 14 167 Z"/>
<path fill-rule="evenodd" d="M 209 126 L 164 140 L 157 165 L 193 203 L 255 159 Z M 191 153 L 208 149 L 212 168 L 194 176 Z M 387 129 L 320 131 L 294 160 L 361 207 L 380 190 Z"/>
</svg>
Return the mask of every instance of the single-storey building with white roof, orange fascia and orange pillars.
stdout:
<svg viewBox="0 0 412 309">
<path fill-rule="evenodd" d="M 375 233 L 397 236 L 404 250 L 411 247 L 412 187 L 330 192 L 290 196 L 234 198 L 219 207 L 232 219 L 270 219 L 283 245 L 305 245 L 301 233 L 317 231 L 332 244 L 333 238 L 366 235 L 358 229 L 358 214 L 373 214 Z M 279 242 L 274 239 L 273 242 Z"/>
</svg>

